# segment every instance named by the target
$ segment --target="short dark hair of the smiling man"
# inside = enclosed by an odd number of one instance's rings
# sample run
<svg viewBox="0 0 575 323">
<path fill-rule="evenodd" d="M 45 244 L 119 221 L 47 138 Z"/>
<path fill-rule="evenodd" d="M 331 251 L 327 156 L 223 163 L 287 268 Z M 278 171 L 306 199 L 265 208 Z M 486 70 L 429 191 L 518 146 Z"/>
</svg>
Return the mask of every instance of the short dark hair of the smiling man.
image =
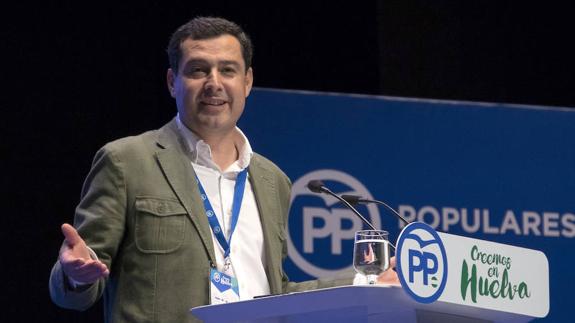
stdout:
<svg viewBox="0 0 575 323">
<path fill-rule="evenodd" d="M 195 40 L 216 38 L 222 35 L 234 36 L 242 48 L 242 56 L 246 71 L 252 66 L 253 45 L 248 34 L 236 23 L 219 17 L 196 17 L 180 26 L 168 44 L 168 59 L 170 68 L 178 74 L 180 59 L 182 58 L 181 44 L 188 38 Z"/>
</svg>

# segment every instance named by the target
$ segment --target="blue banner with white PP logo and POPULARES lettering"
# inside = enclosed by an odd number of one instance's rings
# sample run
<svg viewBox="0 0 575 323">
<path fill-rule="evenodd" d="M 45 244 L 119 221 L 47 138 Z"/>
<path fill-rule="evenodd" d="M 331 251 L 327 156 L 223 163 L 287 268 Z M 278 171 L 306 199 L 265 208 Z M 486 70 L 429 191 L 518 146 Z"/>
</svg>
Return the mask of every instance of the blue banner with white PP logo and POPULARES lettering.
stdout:
<svg viewBox="0 0 575 323">
<path fill-rule="evenodd" d="M 567 108 L 254 89 L 240 127 L 293 182 L 285 268 L 295 281 L 353 272 L 363 224 L 336 200 L 383 200 L 438 231 L 543 251 L 551 309 L 572 321 L 575 111 Z M 395 242 L 400 222 L 360 212 Z M 529 268 L 525 268 L 529 270 Z"/>
</svg>

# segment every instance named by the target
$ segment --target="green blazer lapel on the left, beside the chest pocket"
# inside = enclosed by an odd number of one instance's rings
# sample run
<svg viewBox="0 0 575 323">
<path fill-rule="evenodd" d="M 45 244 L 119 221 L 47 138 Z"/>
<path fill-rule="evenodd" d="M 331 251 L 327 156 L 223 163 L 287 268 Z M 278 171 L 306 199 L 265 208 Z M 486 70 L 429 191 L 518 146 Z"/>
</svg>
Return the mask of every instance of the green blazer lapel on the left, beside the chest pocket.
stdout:
<svg viewBox="0 0 575 323">
<path fill-rule="evenodd" d="M 159 130 L 158 146 L 160 147 L 156 151 L 158 164 L 188 212 L 188 216 L 209 254 L 212 265 L 215 265 L 216 256 L 208 219 L 205 216 L 200 192 L 196 185 L 194 168 L 188 158 L 189 152 L 178 135 L 175 119 Z"/>
</svg>

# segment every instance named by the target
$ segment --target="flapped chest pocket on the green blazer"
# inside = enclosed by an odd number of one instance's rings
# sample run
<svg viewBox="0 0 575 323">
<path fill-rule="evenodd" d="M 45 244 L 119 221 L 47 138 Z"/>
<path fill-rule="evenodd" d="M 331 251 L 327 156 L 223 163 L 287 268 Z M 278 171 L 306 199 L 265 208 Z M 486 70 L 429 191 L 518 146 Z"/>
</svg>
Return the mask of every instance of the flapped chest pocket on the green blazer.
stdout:
<svg viewBox="0 0 575 323">
<path fill-rule="evenodd" d="M 177 200 L 136 197 L 136 247 L 144 253 L 176 251 L 184 242 L 186 210 Z"/>
</svg>

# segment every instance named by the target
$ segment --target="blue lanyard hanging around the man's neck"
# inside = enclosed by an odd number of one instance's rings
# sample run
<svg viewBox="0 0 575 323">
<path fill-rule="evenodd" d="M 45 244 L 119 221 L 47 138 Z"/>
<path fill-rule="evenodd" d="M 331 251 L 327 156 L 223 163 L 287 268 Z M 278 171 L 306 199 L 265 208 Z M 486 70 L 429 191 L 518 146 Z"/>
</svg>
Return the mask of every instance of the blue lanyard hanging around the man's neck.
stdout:
<svg viewBox="0 0 575 323">
<path fill-rule="evenodd" d="M 200 189 L 200 196 L 202 201 L 204 202 L 204 209 L 206 211 L 206 216 L 208 217 L 208 222 L 210 223 L 210 227 L 212 228 L 212 232 L 218 239 L 218 242 L 222 249 L 224 250 L 224 259 L 228 258 L 230 255 L 230 245 L 232 243 L 232 235 L 234 234 L 234 230 L 236 229 L 236 225 L 238 224 L 238 219 L 240 217 L 240 209 L 242 207 L 242 200 L 244 198 L 244 189 L 246 187 L 246 178 L 248 177 L 248 169 L 245 168 L 241 172 L 238 173 L 238 177 L 236 178 L 236 185 L 234 187 L 234 200 L 232 202 L 232 227 L 230 230 L 230 239 L 226 240 L 224 233 L 222 232 L 222 227 L 220 226 L 220 222 L 216 217 L 216 213 L 212 208 L 212 204 L 210 204 L 210 200 L 208 199 L 208 195 L 200 183 L 200 179 L 198 175 L 196 175 L 196 181 L 198 182 L 198 188 Z"/>
</svg>

